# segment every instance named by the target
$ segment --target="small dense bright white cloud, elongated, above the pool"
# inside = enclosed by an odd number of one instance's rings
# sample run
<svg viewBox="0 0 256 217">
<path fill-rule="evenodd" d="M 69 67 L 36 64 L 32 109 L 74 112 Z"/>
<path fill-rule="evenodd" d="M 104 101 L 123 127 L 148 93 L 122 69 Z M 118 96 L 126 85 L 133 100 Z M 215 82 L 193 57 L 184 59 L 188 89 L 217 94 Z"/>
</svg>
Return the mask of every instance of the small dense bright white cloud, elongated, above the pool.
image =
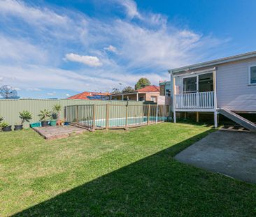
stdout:
<svg viewBox="0 0 256 217">
<path fill-rule="evenodd" d="M 66 59 L 73 62 L 83 63 L 87 66 L 101 66 L 102 63 L 99 61 L 98 57 L 92 57 L 92 56 L 80 56 L 78 54 L 66 54 Z"/>
</svg>

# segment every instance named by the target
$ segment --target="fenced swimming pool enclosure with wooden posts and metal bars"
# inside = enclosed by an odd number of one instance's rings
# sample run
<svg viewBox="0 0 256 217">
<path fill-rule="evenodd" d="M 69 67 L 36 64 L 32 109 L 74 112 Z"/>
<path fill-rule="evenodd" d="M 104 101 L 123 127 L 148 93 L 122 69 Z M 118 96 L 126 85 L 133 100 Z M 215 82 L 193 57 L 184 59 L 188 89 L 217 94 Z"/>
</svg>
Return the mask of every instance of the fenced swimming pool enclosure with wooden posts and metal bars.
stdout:
<svg viewBox="0 0 256 217">
<path fill-rule="evenodd" d="M 70 105 L 66 120 L 91 129 L 131 128 L 169 120 L 168 105 Z"/>
</svg>

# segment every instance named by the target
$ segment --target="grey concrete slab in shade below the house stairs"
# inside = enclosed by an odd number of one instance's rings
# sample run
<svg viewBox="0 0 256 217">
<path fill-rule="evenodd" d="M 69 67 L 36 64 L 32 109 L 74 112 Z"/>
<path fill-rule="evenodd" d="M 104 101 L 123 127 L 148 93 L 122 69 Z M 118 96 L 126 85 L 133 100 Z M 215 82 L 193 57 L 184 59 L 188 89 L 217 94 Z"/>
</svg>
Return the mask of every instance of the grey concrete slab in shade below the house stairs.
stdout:
<svg viewBox="0 0 256 217">
<path fill-rule="evenodd" d="M 219 130 L 192 144 L 175 158 L 256 184 L 256 133 Z"/>
</svg>

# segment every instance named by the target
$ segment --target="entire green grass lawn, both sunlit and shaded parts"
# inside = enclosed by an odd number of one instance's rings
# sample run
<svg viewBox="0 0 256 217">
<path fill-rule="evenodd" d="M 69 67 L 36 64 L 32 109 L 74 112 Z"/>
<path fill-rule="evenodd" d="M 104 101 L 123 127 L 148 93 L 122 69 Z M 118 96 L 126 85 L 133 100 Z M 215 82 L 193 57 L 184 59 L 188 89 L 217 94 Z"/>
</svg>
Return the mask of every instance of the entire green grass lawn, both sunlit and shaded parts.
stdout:
<svg viewBox="0 0 256 217">
<path fill-rule="evenodd" d="M 0 216 L 255 216 L 255 185 L 173 159 L 208 133 L 171 123 L 52 141 L 0 133 Z"/>
</svg>

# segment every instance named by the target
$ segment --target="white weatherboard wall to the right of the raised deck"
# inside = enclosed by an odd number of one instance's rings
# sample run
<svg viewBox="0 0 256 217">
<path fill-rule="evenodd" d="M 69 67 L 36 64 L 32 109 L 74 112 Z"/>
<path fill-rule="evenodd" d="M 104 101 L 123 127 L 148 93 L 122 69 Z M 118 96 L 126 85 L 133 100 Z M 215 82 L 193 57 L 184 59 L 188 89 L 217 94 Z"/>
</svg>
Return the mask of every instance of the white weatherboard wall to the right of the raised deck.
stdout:
<svg viewBox="0 0 256 217">
<path fill-rule="evenodd" d="M 248 85 L 248 66 L 252 65 L 256 65 L 256 58 L 218 66 L 218 108 L 256 112 L 256 85 Z"/>
</svg>

